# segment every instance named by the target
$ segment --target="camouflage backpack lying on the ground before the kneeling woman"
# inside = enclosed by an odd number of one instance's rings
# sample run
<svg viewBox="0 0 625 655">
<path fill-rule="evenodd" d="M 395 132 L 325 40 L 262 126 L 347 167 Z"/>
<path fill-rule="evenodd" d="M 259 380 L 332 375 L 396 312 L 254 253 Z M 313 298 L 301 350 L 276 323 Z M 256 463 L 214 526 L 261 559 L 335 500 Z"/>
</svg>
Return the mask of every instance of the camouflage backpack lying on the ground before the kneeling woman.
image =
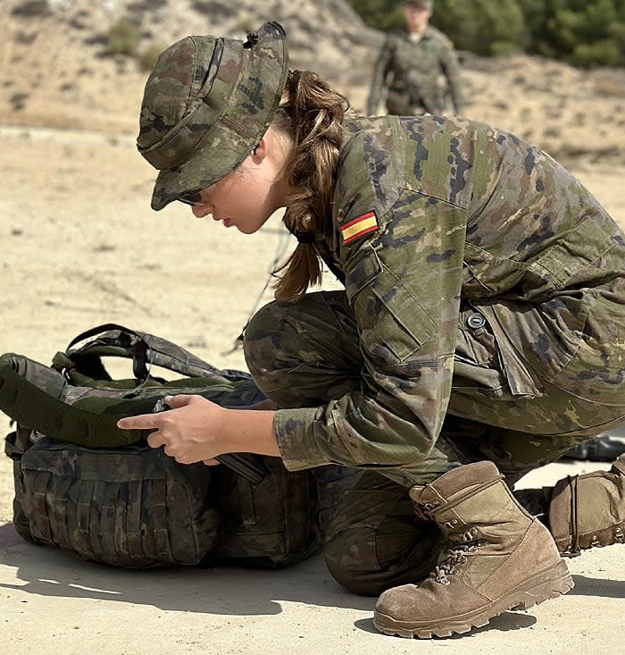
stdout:
<svg viewBox="0 0 625 655">
<path fill-rule="evenodd" d="M 110 357 L 131 361 L 132 376 L 113 378 Z M 178 377 L 165 379 L 165 371 Z M 51 366 L 1 356 L 0 410 L 15 427 L 5 452 L 18 533 L 132 568 L 283 567 L 318 552 L 354 474 L 339 466 L 288 472 L 279 458 L 250 455 L 180 465 L 147 446 L 146 433 L 116 427 L 121 416 L 153 411 L 176 393 L 224 407 L 264 399 L 245 372 L 219 370 L 171 341 L 111 323 L 79 334 Z"/>
</svg>

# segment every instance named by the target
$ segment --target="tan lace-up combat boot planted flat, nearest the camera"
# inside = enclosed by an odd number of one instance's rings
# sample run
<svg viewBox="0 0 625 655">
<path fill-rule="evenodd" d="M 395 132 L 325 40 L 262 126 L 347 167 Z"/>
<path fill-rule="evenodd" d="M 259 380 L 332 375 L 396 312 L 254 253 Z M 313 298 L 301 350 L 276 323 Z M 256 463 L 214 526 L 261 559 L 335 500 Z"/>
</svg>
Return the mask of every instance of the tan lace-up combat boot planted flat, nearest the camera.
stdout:
<svg viewBox="0 0 625 655">
<path fill-rule="evenodd" d="M 402 637 L 446 637 L 485 626 L 507 609 L 528 609 L 573 581 L 545 525 L 514 500 L 492 462 L 460 466 L 410 490 L 436 521 L 447 550 L 421 584 L 382 593 L 373 623 Z"/>
</svg>

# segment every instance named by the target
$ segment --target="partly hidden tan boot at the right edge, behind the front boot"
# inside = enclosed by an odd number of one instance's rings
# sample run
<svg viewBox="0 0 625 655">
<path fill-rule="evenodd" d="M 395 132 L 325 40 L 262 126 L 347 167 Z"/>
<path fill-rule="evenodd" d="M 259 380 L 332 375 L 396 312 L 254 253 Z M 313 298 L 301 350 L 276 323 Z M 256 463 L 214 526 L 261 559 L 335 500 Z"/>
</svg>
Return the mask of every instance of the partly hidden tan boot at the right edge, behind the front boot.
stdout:
<svg viewBox="0 0 625 655">
<path fill-rule="evenodd" d="M 547 518 L 555 545 L 565 557 L 625 543 L 625 455 L 609 471 L 572 475 L 556 483 Z"/>
</svg>

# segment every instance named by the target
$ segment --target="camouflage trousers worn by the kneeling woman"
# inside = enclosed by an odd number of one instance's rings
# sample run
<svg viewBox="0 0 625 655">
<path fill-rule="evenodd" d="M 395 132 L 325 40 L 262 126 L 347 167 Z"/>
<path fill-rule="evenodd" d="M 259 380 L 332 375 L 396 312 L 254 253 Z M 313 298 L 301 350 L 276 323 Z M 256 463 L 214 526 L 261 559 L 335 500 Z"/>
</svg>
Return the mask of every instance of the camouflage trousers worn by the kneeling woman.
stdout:
<svg viewBox="0 0 625 655">
<path fill-rule="evenodd" d="M 584 398 L 574 385 L 547 382 L 499 331 L 491 309 L 462 307 L 452 397 L 437 448 L 421 465 L 421 484 L 488 459 L 513 485 L 580 441 L 625 423 L 625 382 L 612 379 L 618 375 L 606 374 L 607 384 L 602 376 L 589 378 Z M 610 339 L 606 334 L 607 348 Z M 279 407 L 317 407 L 360 388 L 362 355 L 343 291 L 263 307 L 246 331 L 245 352 L 254 381 Z M 579 377 L 584 366 L 571 361 L 567 375 Z M 549 433 L 541 433 L 546 426 Z M 324 555 L 340 584 L 374 595 L 428 575 L 441 539 L 437 525 L 415 516 L 405 487 L 365 470 L 329 526 Z"/>
</svg>

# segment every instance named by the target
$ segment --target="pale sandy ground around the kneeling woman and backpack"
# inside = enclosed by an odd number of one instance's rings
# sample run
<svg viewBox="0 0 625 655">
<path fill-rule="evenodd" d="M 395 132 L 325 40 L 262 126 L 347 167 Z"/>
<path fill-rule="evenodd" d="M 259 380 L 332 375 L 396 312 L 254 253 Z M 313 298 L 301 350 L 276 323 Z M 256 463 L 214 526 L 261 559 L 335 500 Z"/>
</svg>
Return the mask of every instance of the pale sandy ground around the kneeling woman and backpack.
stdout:
<svg viewBox="0 0 625 655">
<path fill-rule="evenodd" d="M 183 206 L 155 214 L 153 172 L 128 135 L 0 126 L 0 151 L 0 352 L 47 364 L 79 332 L 114 322 L 177 341 L 215 365 L 245 368 L 232 344 L 274 256 L 293 245 L 278 216 L 244 237 L 193 220 Z M 622 222 L 625 164 L 614 161 L 573 170 Z M 8 420 L 0 419 L 3 427 L 8 432 Z M 590 467 L 555 464 L 526 483 L 550 484 Z M 506 612 L 469 636 L 411 642 L 378 634 L 374 600 L 344 592 L 319 558 L 269 573 L 115 570 L 21 541 L 11 523 L 8 458 L 0 458 L 0 491 L 0 634 L 10 655 L 612 654 L 622 647 L 621 546 L 571 560 L 576 586 L 565 597 Z"/>
</svg>

